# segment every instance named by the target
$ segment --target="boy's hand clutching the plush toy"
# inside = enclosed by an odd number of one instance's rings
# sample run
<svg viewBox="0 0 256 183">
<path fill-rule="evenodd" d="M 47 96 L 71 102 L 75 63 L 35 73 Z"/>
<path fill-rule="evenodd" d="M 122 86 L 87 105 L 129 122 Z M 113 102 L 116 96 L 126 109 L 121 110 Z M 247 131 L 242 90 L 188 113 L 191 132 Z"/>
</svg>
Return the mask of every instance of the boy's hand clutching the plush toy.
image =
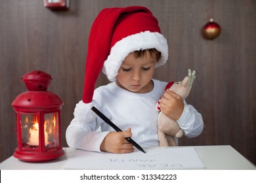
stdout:
<svg viewBox="0 0 256 183">
<path fill-rule="evenodd" d="M 173 120 L 179 120 L 184 110 L 184 103 L 180 95 L 166 90 L 160 103 L 161 112 Z"/>
</svg>

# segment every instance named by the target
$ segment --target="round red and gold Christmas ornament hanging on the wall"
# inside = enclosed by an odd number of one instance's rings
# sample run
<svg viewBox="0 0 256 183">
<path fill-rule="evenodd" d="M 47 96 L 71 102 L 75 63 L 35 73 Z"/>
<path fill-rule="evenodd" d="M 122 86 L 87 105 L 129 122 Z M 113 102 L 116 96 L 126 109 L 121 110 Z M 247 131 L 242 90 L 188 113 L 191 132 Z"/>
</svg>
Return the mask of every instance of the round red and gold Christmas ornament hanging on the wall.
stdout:
<svg viewBox="0 0 256 183">
<path fill-rule="evenodd" d="M 206 39 L 215 39 L 221 33 L 221 26 L 211 18 L 210 22 L 203 26 L 202 33 Z"/>
</svg>

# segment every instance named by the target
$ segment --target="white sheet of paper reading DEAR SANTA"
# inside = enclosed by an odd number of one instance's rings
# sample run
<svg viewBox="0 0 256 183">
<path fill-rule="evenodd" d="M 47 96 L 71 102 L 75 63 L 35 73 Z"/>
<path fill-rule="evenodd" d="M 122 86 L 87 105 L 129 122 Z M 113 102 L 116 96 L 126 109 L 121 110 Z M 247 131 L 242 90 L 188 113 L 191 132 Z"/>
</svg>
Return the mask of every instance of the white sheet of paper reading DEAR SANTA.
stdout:
<svg viewBox="0 0 256 183">
<path fill-rule="evenodd" d="M 64 169 L 203 169 L 194 148 L 144 148 L 129 154 L 77 150 Z"/>
</svg>

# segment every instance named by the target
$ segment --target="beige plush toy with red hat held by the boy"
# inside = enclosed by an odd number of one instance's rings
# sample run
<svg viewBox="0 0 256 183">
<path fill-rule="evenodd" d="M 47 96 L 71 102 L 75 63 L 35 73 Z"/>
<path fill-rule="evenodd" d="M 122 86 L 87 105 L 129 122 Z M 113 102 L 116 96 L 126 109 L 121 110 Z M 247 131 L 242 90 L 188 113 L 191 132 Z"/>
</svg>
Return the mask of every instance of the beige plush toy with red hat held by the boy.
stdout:
<svg viewBox="0 0 256 183">
<path fill-rule="evenodd" d="M 188 69 L 188 76 L 184 80 L 180 82 L 169 82 L 165 90 L 169 88 L 170 91 L 177 93 L 184 100 L 188 97 L 195 78 L 196 71 L 191 73 L 191 70 Z M 157 103 L 157 108 L 160 110 L 160 101 Z M 182 135 L 183 131 L 179 127 L 179 124 L 175 120 L 167 117 L 163 112 L 160 112 L 158 116 L 158 138 L 160 146 L 177 146 L 174 137 L 181 138 Z"/>
</svg>

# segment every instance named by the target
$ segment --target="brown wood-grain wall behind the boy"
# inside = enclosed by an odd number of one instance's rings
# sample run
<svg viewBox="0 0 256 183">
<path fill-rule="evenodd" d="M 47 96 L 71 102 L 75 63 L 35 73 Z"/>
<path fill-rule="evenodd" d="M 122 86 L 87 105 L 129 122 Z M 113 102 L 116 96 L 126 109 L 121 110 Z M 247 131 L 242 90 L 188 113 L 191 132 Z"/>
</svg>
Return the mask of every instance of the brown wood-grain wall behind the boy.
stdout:
<svg viewBox="0 0 256 183">
<path fill-rule="evenodd" d="M 87 39 L 104 7 L 143 5 L 158 18 L 169 42 L 169 62 L 156 71 L 160 80 L 181 80 L 197 71 L 188 103 L 203 115 L 202 135 L 180 145 L 230 144 L 256 163 L 256 1 L 71 0 L 68 11 L 51 11 L 43 0 L 0 0 L 0 161 L 16 147 L 15 97 L 26 91 L 20 78 L 33 70 L 52 75 L 49 90 L 64 101 L 62 145 L 75 103 L 82 97 Z M 202 26 L 213 18 L 222 27 L 213 41 L 202 38 Z M 104 31 L 104 30 L 102 30 Z M 100 54 L 100 50 L 99 54 Z M 97 86 L 106 84 L 104 75 Z"/>
</svg>

